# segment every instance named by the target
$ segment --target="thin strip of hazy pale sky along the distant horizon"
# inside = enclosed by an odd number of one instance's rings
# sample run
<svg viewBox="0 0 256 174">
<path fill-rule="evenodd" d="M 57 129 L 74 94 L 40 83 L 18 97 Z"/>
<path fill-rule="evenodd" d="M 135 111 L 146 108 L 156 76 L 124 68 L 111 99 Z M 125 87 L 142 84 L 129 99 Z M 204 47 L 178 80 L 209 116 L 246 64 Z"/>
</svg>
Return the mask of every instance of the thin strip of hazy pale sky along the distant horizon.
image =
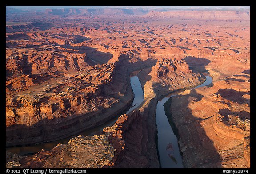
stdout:
<svg viewBox="0 0 256 174">
<path fill-rule="evenodd" d="M 144 9 L 144 10 L 250 10 L 250 6 L 5 6 L 19 10 L 46 10 L 46 9 Z"/>
</svg>

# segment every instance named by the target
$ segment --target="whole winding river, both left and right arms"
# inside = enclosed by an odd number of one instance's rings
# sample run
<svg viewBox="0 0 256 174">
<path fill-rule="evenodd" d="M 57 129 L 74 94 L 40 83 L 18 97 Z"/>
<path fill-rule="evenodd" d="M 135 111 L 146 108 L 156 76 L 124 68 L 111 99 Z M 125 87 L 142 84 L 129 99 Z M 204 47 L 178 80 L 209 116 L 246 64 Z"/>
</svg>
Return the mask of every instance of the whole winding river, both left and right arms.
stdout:
<svg viewBox="0 0 256 174">
<path fill-rule="evenodd" d="M 143 101 L 144 101 L 144 93 L 141 87 L 141 83 L 136 76 L 139 71 L 132 72 L 130 75 L 130 82 L 132 86 L 132 90 L 134 93 L 134 100 L 132 102 L 131 107 L 128 109 L 126 114 L 137 108 Z M 206 86 L 212 83 L 212 77 L 206 76 L 206 81 L 198 85 L 192 89 L 199 88 L 202 86 Z M 160 164 L 162 168 L 183 168 L 182 164 L 182 157 L 180 155 L 180 150 L 178 146 L 178 140 L 176 135 L 174 134 L 171 125 L 169 124 L 169 121 L 167 119 L 167 116 L 165 115 L 164 111 L 164 103 L 168 101 L 169 98 L 176 96 L 180 91 L 171 93 L 167 97 L 164 97 L 163 99 L 159 100 L 156 106 L 156 124 L 157 124 L 157 130 L 158 130 L 158 152 L 159 152 L 159 158 L 160 158 Z M 81 132 L 78 135 L 84 135 L 84 136 L 92 136 L 100 131 L 102 131 L 107 126 L 112 126 L 118 117 L 113 118 L 112 120 L 107 121 L 106 123 L 96 127 L 92 128 L 88 131 Z M 6 151 L 16 153 L 19 155 L 32 155 L 34 153 L 37 153 L 38 151 L 41 151 L 42 149 L 45 150 L 51 150 L 52 148 L 56 147 L 58 143 L 68 143 L 72 137 L 75 137 L 77 135 L 60 139 L 57 141 L 47 142 L 47 143 L 40 143 L 36 145 L 30 145 L 30 146 L 21 146 L 21 147 L 8 147 L 6 148 Z"/>
</svg>

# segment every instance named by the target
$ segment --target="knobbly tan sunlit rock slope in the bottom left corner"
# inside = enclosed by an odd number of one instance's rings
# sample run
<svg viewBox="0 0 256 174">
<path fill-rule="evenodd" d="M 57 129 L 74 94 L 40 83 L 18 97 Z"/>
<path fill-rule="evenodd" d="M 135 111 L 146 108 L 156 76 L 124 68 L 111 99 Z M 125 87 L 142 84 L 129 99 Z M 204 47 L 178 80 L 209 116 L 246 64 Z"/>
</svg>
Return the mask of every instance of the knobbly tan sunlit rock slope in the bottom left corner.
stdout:
<svg viewBox="0 0 256 174">
<path fill-rule="evenodd" d="M 101 168 L 112 160 L 113 155 L 114 149 L 108 141 L 108 135 L 92 137 L 80 135 L 71 139 L 68 144 L 58 144 L 50 151 L 42 149 L 32 156 L 20 159 L 10 158 L 6 166 L 8 168 L 15 166 L 22 168 Z"/>
</svg>

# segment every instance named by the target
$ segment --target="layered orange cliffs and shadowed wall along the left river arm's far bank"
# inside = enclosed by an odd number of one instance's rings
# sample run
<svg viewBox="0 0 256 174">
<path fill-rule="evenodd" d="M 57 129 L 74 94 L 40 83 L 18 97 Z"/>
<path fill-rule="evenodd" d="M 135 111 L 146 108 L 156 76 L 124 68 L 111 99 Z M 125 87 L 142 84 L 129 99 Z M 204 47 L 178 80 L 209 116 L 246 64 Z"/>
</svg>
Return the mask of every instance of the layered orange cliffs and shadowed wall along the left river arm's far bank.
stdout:
<svg viewBox="0 0 256 174">
<path fill-rule="evenodd" d="M 74 135 L 103 124 L 132 102 L 126 66 L 118 64 L 116 67 L 111 63 L 63 72 L 51 74 L 54 80 L 47 74 L 21 75 L 20 81 L 9 77 L 6 84 L 7 146 Z"/>
</svg>

